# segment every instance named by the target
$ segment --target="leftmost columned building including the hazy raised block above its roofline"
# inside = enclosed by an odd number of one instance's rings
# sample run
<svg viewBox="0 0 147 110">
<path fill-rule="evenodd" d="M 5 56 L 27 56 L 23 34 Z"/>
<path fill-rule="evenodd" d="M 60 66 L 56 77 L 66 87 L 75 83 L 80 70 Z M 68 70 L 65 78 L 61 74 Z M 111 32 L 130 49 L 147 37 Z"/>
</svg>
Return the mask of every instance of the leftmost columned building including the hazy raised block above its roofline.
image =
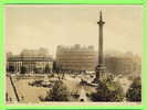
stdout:
<svg viewBox="0 0 147 110">
<path fill-rule="evenodd" d="M 19 73 L 25 68 L 27 73 L 45 73 L 52 70 L 53 58 L 45 48 L 23 50 L 20 55 L 7 55 L 7 70 Z"/>
</svg>

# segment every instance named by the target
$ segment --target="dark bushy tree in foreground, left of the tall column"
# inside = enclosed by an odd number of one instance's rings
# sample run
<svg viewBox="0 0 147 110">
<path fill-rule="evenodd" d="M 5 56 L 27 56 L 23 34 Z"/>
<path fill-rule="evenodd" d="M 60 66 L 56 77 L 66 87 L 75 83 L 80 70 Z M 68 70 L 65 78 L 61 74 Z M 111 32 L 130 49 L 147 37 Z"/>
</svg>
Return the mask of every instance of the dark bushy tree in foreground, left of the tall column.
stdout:
<svg viewBox="0 0 147 110">
<path fill-rule="evenodd" d="M 56 80 L 53 88 L 48 91 L 48 96 L 45 97 L 45 101 L 69 101 L 70 94 L 61 80 Z"/>
</svg>

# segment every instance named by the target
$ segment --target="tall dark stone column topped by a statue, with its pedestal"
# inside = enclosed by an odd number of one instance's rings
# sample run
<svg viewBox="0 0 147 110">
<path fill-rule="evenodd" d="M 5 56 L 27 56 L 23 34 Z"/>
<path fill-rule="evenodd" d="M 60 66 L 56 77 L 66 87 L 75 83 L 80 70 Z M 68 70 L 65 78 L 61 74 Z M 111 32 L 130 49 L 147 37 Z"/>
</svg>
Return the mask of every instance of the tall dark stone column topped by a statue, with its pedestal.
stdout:
<svg viewBox="0 0 147 110">
<path fill-rule="evenodd" d="M 98 36 L 98 64 L 96 66 L 96 78 L 94 81 L 98 81 L 99 78 L 105 74 L 105 64 L 104 64 L 104 55 L 103 55 L 103 25 L 105 22 L 103 21 L 102 11 L 99 12 L 99 21 L 97 22 L 99 29 L 99 36 Z"/>
</svg>

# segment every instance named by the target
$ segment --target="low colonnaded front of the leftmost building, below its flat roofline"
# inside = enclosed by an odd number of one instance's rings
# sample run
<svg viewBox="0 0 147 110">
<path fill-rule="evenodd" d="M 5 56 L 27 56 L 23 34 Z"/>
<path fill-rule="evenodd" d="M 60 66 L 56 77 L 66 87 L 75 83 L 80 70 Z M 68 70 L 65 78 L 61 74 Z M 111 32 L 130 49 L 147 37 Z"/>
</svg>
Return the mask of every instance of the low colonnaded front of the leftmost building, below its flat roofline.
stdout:
<svg viewBox="0 0 147 110">
<path fill-rule="evenodd" d="M 25 73 L 50 73 L 53 68 L 53 59 L 51 57 L 19 57 L 13 56 L 7 59 L 7 70 L 10 73 L 21 73 L 25 68 Z"/>
</svg>

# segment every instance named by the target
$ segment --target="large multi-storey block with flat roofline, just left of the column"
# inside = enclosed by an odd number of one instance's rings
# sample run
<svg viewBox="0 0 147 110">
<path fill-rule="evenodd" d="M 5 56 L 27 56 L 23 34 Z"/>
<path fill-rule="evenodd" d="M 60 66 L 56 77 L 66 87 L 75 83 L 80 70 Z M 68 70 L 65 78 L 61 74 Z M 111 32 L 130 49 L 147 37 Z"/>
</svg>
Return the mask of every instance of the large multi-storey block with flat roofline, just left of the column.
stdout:
<svg viewBox="0 0 147 110">
<path fill-rule="evenodd" d="M 71 47 L 57 46 L 56 67 L 65 70 L 94 70 L 97 53 L 94 47 L 81 47 L 75 44 Z"/>
</svg>

